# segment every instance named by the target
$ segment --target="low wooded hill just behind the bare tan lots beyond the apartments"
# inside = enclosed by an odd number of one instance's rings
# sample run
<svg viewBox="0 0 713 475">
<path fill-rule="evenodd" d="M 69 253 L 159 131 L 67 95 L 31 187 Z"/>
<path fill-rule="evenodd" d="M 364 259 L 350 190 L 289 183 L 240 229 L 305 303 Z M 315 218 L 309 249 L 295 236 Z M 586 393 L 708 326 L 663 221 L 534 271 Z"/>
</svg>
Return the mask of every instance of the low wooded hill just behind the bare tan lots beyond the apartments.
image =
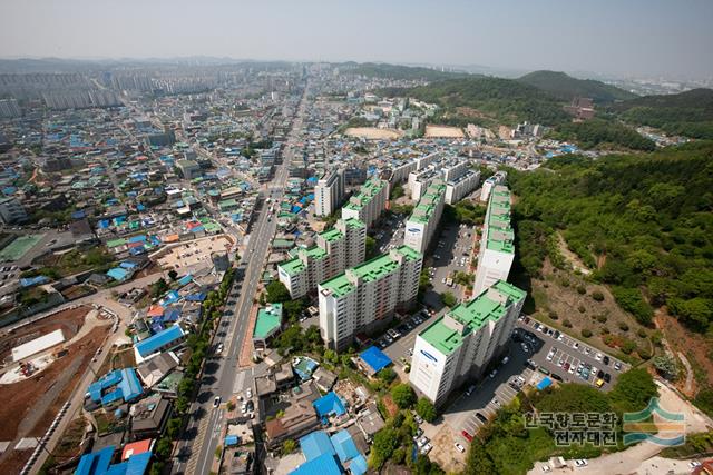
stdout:
<svg viewBox="0 0 713 475">
<path fill-rule="evenodd" d="M 453 125 L 515 125 L 528 120 L 551 126 L 568 120 L 560 101 L 555 97 L 511 79 L 449 79 L 403 92 L 440 105 L 445 110 L 438 119 Z"/>
</svg>

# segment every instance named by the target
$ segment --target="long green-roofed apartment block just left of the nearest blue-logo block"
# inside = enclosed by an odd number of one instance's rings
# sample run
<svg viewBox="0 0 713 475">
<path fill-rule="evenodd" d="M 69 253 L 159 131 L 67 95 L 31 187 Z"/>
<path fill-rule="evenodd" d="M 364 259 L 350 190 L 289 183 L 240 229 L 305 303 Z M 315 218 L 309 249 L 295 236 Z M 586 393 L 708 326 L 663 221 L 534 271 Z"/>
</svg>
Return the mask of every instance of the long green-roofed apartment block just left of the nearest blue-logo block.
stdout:
<svg viewBox="0 0 713 475">
<path fill-rule="evenodd" d="M 342 350 L 354 335 L 380 328 L 394 310 L 412 306 L 422 261 L 420 253 L 401 246 L 320 284 L 320 329 L 326 346 Z"/>
</svg>

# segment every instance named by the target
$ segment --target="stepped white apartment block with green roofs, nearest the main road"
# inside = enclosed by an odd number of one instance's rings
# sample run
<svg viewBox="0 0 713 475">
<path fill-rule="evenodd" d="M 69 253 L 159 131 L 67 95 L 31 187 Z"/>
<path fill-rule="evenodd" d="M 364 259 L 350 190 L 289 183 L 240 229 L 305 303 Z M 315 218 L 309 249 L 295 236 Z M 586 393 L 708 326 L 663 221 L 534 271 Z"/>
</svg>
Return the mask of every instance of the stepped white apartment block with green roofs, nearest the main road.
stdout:
<svg viewBox="0 0 713 475">
<path fill-rule="evenodd" d="M 367 227 L 359 219 L 340 219 L 334 228 L 320 232 L 316 245 L 277 266 L 277 277 L 292 298 L 316 289 L 319 283 L 364 261 Z"/>
</svg>

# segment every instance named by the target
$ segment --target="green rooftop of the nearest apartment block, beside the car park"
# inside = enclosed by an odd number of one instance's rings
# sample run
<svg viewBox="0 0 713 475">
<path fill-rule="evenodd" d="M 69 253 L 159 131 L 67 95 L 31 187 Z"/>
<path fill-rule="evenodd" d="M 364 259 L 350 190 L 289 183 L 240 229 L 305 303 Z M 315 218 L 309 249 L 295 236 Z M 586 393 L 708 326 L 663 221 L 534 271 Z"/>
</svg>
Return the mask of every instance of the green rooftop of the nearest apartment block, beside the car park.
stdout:
<svg viewBox="0 0 713 475">
<path fill-rule="evenodd" d="M 478 297 L 470 301 L 466 301 L 453 307 L 446 316 L 439 318 L 428 328 L 419 334 L 421 338 L 428 342 L 445 355 L 450 355 L 462 344 L 463 339 L 472 331 L 485 326 L 488 320 L 497 321 L 507 313 L 507 308 L 515 301 L 525 298 L 526 293 L 502 280 L 498 280 L 491 287 L 504 294 L 508 300 L 505 305 L 492 300 L 488 297 L 488 290 L 485 290 Z M 465 326 L 463 331 L 450 327 L 446 320 L 450 317 Z"/>
</svg>

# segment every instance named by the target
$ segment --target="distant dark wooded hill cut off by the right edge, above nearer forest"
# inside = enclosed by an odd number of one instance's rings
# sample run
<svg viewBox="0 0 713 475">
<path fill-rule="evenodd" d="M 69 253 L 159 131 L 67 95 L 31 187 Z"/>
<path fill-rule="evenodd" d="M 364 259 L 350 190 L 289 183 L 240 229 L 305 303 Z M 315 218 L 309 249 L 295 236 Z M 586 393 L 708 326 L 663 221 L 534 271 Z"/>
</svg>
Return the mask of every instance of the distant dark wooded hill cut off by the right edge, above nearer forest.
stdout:
<svg viewBox="0 0 713 475">
<path fill-rule="evenodd" d="M 712 89 L 645 96 L 613 105 L 611 110 L 631 123 L 691 138 L 713 139 Z"/>
</svg>

